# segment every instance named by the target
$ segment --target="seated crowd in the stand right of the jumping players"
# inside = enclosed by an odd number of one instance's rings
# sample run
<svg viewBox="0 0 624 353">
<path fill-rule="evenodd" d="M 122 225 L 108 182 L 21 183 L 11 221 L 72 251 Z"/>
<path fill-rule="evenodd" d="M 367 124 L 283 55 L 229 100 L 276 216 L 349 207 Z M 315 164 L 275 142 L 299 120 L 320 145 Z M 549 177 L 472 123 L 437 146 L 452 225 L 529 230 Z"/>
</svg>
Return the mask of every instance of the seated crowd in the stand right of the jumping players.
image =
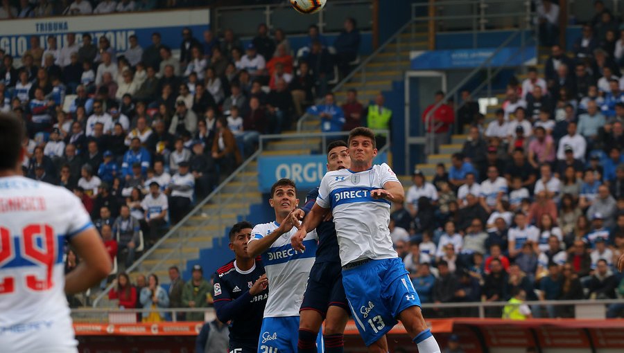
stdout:
<svg viewBox="0 0 624 353">
<path fill-rule="evenodd" d="M 613 271 L 624 251 L 624 78 L 614 53 L 624 35 L 609 49 L 618 24 L 601 1 L 596 10 L 571 53 L 551 47 L 544 75 L 529 68 L 522 82 L 510 80 L 491 123 L 463 92 L 458 121 L 470 127 L 461 152 L 449 170 L 415 170 L 392 235 L 422 302 L 624 296 Z M 454 121 L 444 111 L 451 104 L 434 112 L 439 126 Z M 622 309 L 609 306 L 607 316 Z M 442 312 L 462 314 L 433 315 Z M 573 309 L 535 306 L 532 316 Z"/>
</svg>

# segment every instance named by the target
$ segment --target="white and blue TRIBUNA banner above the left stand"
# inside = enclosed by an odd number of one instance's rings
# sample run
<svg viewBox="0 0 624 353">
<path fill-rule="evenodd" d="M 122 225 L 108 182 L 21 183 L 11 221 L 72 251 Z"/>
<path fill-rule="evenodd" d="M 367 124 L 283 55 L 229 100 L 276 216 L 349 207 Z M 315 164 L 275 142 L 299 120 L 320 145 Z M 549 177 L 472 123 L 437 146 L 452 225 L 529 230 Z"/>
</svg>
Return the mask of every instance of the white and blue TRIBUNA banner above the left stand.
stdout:
<svg viewBox="0 0 624 353">
<path fill-rule="evenodd" d="M 58 48 L 67 40 L 67 33 L 77 33 L 82 42 L 83 33 L 91 33 L 94 43 L 105 36 L 117 53 L 128 48 L 128 37 L 137 35 L 143 48 L 152 44 L 152 33 L 158 32 L 162 43 L 172 49 L 180 48 L 182 28 L 189 27 L 193 36 L 201 39 L 202 32 L 210 26 L 210 10 L 174 10 L 155 12 L 127 12 L 110 15 L 44 17 L 40 19 L 10 19 L 2 21 L 0 48 L 14 57 L 21 57 L 30 47 L 30 37 L 37 36 L 42 48 L 46 37 L 56 37 Z"/>
</svg>

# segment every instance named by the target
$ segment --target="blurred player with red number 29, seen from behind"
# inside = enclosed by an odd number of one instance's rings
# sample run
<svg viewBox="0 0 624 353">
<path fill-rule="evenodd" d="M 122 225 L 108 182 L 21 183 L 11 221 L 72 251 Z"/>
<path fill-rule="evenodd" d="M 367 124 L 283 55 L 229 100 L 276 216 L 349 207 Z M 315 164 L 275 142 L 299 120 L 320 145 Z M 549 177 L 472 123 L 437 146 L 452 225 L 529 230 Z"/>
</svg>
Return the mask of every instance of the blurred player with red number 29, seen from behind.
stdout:
<svg viewBox="0 0 624 353">
<path fill-rule="evenodd" d="M 110 257 L 76 196 L 21 177 L 24 134 L 0 114 L 0 351 L 78 352 L 65 294 L 105 278 Z M 65 240 L 82 260 L 67 275 Z"/>
</svg>

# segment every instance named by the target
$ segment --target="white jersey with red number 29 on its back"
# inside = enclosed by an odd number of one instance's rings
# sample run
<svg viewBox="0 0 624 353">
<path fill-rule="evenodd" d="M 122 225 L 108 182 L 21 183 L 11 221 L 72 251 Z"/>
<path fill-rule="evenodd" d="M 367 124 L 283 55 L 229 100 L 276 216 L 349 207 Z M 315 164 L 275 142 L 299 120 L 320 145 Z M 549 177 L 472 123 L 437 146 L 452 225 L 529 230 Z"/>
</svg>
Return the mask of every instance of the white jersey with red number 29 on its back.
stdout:
<svg viewBox="0 0 624 353">
<path fill-rule="evenodd" d="M 83 203 L 65 188 L 0 178 L 0 351 L 77 352 L 63 246 L 91 227 Z"/>
</svg>

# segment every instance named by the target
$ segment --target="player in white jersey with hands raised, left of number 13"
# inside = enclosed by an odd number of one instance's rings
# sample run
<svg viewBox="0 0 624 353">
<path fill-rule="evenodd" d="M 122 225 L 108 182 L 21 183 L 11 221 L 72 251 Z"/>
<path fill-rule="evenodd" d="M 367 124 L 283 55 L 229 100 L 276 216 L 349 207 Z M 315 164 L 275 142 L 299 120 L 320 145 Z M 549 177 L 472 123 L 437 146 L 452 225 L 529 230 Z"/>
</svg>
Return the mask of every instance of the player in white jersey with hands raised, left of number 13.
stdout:
<svg viewBox="0 0 624 353">
<path fill-rule="evenodd" d="M 255 226 L 247 248 L 250 256 L 262 255 L 271 285 L 258 353 L 297 352 L 299 309 L 314 264 L 318 237 L 315 231 L 303 235 L 306 251 L 295 251 L 291 245 L 291 236 L 297 230 L 290 216 L 299 204 L 297 188 L 291 179 L 279 179 L 272 185 L 270 195 L 275 221 Z M 321 334 L 317 344 L 318 352 L 322 352 Z"/>
</svg>

